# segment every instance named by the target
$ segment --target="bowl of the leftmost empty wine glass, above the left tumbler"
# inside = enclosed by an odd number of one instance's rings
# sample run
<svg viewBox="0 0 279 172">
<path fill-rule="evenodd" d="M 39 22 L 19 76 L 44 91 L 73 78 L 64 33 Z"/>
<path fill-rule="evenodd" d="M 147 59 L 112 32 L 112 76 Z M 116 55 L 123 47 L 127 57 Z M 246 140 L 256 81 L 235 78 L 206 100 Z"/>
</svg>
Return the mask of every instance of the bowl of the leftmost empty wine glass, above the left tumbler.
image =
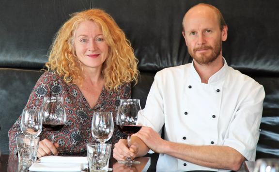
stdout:
<svg viewBox="0 0 279 172">
<path fill-rule="evenodd" d="M 37 137 L 42 132 L 40 109 L 23 109 L 20 129 L 26 137 Z"/>
</svg>

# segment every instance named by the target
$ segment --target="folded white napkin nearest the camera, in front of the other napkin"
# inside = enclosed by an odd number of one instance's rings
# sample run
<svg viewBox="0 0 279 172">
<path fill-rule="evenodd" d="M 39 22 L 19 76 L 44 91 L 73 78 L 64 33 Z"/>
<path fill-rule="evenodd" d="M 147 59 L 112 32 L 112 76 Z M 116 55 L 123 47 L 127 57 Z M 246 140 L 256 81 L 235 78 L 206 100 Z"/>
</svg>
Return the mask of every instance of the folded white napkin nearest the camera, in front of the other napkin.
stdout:
<svg viewBox="0 0 279 172">
<path fill-rule="evenodd" d="M 83 164 L 35 162 L 28 170 L 31 172 L 80 172 L 83 170 Z"/>
</svg>

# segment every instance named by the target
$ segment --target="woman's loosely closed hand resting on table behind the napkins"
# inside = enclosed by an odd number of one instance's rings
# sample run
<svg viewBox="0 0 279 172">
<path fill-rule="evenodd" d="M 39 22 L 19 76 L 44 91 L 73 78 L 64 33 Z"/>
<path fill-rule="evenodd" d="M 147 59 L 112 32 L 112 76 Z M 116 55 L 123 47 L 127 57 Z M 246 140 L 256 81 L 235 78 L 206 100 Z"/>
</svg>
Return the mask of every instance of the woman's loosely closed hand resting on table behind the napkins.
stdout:
<svg viewBox="0 0 279 172">
<path fill-rule="evenodd" d="M 49 140 L 44 139 L 39 142 L 39 148 L 37 152 L 37 157 L 41 158 L 44 156 L 51 155 L 51 153 L 55 156 L 58 155 L 57 148 L 59 147 L 58 143 L 51 143 Z"/>
</svg>

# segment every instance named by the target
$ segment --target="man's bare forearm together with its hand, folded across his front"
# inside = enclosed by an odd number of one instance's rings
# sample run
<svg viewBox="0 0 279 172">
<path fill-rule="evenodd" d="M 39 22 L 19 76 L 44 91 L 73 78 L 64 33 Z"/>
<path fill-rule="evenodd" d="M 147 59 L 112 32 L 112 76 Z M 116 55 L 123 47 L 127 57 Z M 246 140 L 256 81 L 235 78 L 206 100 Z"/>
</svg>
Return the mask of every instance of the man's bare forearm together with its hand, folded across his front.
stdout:
<svg viewBox="0 0 279 172">
<path fill-rule="evenodd" d="M 237 171 L 245 160 L 238 151 L 229 146 L 194 146 L 163 140 L 157 132 L 143 127 L 137 136 L 153 151 L 216 169 Z"/>
</svg>

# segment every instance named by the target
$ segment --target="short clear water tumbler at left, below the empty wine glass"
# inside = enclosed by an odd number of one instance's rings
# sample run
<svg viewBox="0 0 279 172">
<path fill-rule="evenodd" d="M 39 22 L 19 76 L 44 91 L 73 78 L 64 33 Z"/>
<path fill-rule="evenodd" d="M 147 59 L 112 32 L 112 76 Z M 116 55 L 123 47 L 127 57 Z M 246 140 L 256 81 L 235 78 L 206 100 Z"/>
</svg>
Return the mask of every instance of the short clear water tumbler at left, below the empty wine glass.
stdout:
<svg viewBox="0 0 279 172">
<path fill-rule="evenodd" d="M 39 137 L 24 137 L 16 138 L 18 162 L 34 162 L 37 158 Z"/>
</svg>

